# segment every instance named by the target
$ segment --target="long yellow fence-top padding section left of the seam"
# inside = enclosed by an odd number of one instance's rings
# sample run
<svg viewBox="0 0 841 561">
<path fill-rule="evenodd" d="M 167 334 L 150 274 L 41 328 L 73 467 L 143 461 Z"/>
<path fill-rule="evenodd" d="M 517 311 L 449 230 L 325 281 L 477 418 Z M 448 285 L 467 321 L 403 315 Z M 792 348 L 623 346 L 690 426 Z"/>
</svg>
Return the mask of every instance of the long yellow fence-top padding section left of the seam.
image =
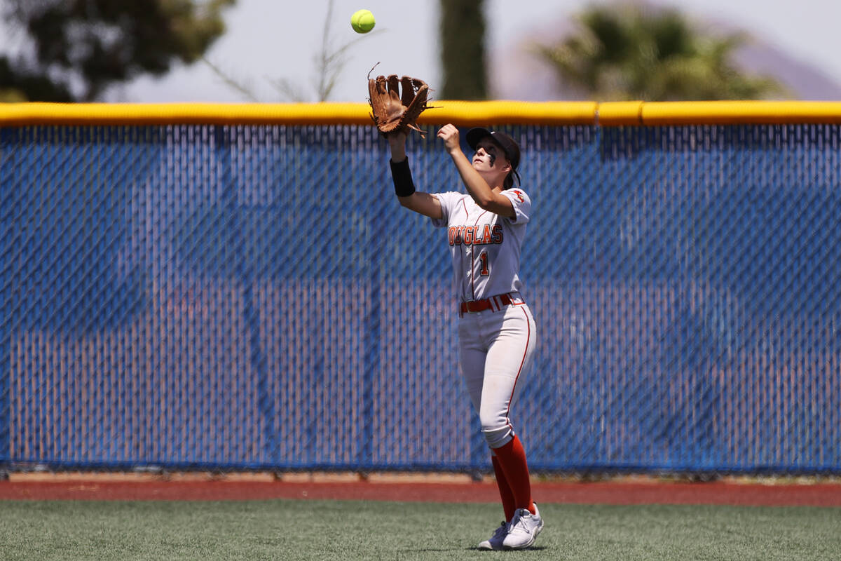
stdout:
<svg viewBox="0 0 841 561">
<path fill-rule="evenodd" d="M 421 124 L 591 124 L 595 102 L 432 101 Z M 0 126 L 29 124 L 373 124 L 368 103 L 6 103 Z"/>
</svg>

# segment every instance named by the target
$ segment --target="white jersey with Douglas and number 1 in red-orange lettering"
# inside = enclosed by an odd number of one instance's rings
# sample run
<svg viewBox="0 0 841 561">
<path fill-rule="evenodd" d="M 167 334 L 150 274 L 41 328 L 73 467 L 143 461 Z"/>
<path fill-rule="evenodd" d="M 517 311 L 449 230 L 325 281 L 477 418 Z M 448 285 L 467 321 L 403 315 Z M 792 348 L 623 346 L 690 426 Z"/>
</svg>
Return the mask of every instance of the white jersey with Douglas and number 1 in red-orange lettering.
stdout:
<svg viewBox="0 0 841 561">
<path fill-rule="evenodd" d="M 433 193 L 441 202 L 442 218 L 455 275 L 453 291 L 462 302 L 520 291 L 520 253 L 532 201 L 521 188 L 502 192 L 514 205 L 515 217 L 494 214 L 479 207 L 465 193 Z"/>
</svg>

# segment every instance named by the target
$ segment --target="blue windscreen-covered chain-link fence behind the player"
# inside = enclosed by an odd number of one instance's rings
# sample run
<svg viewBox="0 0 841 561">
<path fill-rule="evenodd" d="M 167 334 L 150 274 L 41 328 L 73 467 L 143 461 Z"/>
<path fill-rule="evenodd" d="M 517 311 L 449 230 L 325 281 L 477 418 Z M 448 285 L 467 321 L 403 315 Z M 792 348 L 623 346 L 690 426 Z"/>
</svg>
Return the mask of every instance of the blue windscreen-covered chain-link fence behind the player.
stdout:
<svg viewBox="0 0 841 561">
<path fill-rule="evenodd" d="M 841 472 L 841 128 L 500 127 L 533 470 Z M 415 183 L 463 189 L 430 129 Z M 485 469 L 369 126 L 0 130 L 0 463 Z"/>
</svg>

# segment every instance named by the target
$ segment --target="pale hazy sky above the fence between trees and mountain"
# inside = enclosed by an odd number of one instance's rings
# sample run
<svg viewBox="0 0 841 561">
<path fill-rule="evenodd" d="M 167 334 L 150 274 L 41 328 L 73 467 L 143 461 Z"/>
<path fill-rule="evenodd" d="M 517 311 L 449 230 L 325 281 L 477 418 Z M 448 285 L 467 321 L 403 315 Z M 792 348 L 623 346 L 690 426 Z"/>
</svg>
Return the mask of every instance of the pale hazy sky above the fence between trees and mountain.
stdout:
<svg viewBox="0 0 841 561">
<path fill-rule="evenodd" d="M 512 49 L 538 29 L 568 21 L 590 5 L 582 0 L 485 0 L 488 50 Z M 816 67 L 841 84 L 841 2 L 837 0 L 683 0 L 649 3 L 680 8 L 694 19 L 744 29 L 796 61 Z M 334 0 L 330 50 L 348 45 L 346 62 L 329 101 L 364 103 L 368 71 L 440 82 L 439 3 L 436 0 Z M 226 76 L 246 85 L 258 102 L 293 101 L 272 81 L 293 82 L 303 101 L 317 100 L 315 56 L 324 38 L 326 0 L 238 0 L 225 12 L 227 31 L 207 53 Z M 369 34 L 356 34 L 350 19 L 357 9 L 377 19 Z M 493 64 L 493 56 L 491 57 Z M 166 77 L 141 77 L 108 94 L 130 103 L 246 103 L 209 65 L 177 66 Z"/>
</svg>

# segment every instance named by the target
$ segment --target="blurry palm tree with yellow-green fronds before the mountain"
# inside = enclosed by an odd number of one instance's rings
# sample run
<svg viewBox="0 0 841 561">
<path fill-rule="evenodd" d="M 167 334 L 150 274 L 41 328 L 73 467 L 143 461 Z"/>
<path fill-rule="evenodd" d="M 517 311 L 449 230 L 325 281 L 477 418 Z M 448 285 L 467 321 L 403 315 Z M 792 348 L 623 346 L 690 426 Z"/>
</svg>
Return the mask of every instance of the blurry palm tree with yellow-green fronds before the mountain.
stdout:
<svg viewBox="0 0 841 561">
<path fill-rule="evenodd" d="M 697 31 L 672 8 L 619 3 L 593 6 L 576 18 L 577 31 L 537 45 L 561 82 L 596 101 L 761 99 L 785 93 L 771 77 L 734 66 L 744 34 Z"/>
</svg>

